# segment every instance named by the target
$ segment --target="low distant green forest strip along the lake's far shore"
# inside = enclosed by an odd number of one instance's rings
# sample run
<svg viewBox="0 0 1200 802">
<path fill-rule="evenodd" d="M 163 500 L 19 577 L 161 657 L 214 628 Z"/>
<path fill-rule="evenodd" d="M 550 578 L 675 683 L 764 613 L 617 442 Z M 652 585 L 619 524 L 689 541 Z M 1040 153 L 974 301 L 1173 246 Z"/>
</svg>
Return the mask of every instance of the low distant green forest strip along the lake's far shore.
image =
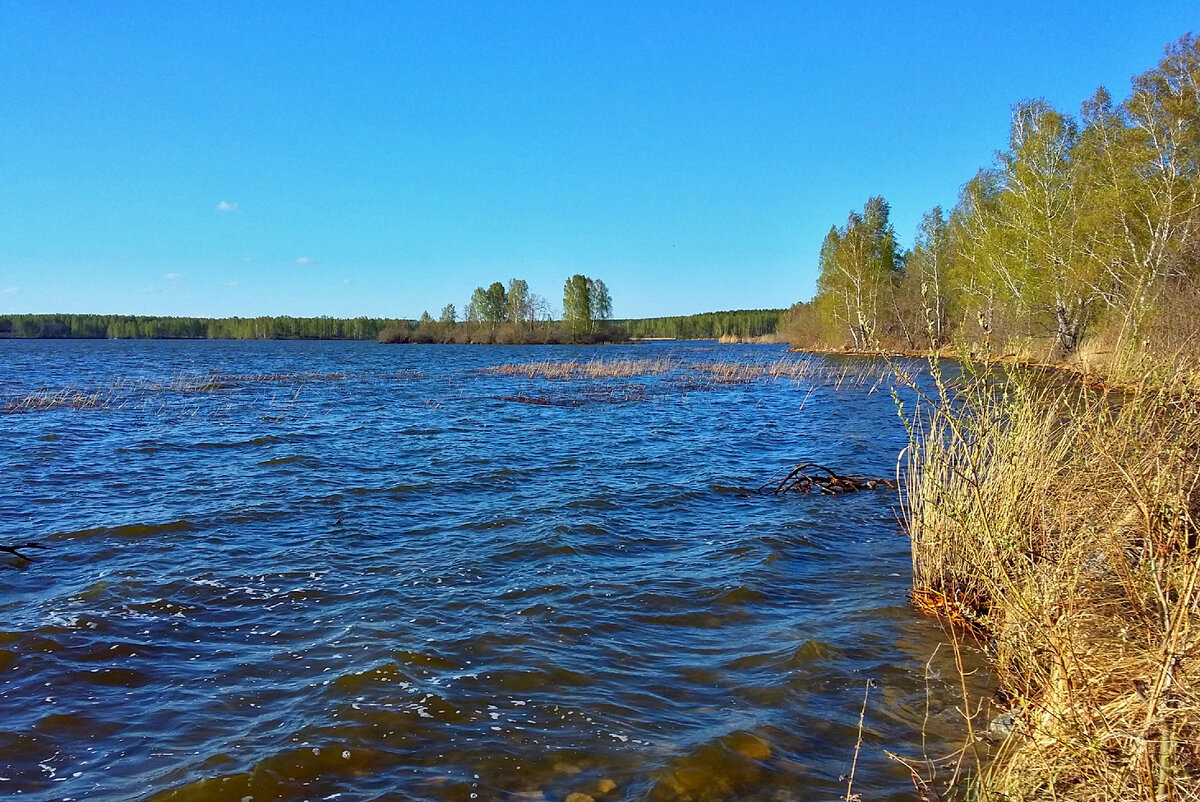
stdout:
<svg viewBox="0 0 1200 802">
<path fill-rule="evenodd" d="M 737 310 L 610 321 L 610 339 L 716 340 L 772 335 L 784 310 Z M 0 339 L 56 340 L 376 340 L 385 329 L 419 333 L 421 321 L 332 317 L 146 317 L 131 315 L 0 315 Z M 448 323 L 468 328 L 468 322 Z M 475 324 L 479 325 L 479 324 Z M 414 339 L 414 341 L 422 341 Z M 469 341 L 469 340 L 467 340 Z M 476 340 L 478 341 L 478 340 Z M 486 341 L 486 340 L 484 340 Z"/>
</svg>

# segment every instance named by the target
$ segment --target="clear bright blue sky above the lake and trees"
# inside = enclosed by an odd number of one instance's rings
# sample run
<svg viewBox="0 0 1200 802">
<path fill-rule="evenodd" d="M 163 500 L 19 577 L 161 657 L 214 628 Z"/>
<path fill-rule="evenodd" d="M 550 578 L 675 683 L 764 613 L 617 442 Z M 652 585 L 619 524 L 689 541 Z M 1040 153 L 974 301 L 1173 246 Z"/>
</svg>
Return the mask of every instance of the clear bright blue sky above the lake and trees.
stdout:
<svg viewBox="0 0 1200 802">
<path fill-rule="evenodd" d="M 0 312 L 786 306 L 868 196 L 910 243 L 1014 102 L 1122 97 L 1198 12 L 0 0 Z"/>
</svg>

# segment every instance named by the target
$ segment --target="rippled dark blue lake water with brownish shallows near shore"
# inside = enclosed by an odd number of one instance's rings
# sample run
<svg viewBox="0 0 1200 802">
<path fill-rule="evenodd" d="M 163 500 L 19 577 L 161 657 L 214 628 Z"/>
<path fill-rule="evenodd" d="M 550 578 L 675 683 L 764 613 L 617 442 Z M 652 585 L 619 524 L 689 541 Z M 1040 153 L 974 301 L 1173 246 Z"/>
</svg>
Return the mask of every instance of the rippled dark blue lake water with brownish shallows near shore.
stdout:
<svg viewBox="0 0 1200 802">
<path fill-rule="evenodd" d="M 890 394 L 691 366 L 787 358 L 0 341 L 0 543 L 49 547 L 0 556 L 0 795 L 838 798 L 874 678 L 853 790 L 912 798 L 958 681 L 894 491 L 754 492 L 892 477 Z"/>
</svg>

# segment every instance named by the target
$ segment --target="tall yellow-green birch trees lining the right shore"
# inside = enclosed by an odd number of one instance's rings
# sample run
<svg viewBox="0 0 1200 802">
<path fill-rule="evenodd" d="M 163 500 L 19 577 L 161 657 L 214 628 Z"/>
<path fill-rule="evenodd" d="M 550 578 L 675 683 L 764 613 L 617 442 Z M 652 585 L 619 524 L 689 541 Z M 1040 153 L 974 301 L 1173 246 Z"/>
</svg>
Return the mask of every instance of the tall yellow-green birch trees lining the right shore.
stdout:
<svg viewBox="0 0 1200 802">
<path fill-rule="evenodd" d="M 1103 334 L 1175 347 L 1200 331 L 1200 47 L 1184 35 L 1078 116 L 1013 108 L 1007 146 L 911 250 L 871 197 L 829 229 L 817 292 L 784 323 L 797 347 L 928 348 L 995 337 L 1058 355 Z M 1172 346 L 1171 343 L 1175 343 Z M 1192 346 L 1194 347 L 1194 345 Z"/>
</svg>

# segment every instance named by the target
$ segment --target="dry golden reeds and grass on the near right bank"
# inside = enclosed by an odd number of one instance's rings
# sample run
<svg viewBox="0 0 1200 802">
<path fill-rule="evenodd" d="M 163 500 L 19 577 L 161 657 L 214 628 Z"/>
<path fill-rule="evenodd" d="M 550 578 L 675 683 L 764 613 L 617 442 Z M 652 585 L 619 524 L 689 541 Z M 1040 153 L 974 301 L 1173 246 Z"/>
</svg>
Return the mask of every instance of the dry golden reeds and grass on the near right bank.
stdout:
<svg viewBox="0 0 1200 802">
<path fill-rule="evenodd" d="M 962 370 L 907 417 L 902 501 L 913 600 L 986 644 L 1012 722 L 972 794 L 1200 798 L 1200 385 Z"/>
</svg>

